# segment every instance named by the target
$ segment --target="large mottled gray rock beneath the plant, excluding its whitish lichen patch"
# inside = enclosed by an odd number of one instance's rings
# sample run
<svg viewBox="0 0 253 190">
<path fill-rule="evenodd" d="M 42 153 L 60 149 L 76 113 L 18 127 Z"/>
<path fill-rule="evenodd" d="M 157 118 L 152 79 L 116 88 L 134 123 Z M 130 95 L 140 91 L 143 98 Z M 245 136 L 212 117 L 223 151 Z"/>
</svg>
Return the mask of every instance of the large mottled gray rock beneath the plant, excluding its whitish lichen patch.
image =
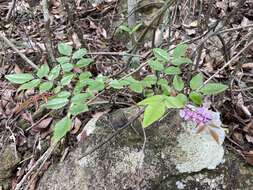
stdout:
<svg viewBox="0 0 253 190">
<path fill-rule="evenodd" d="M 225 162 L 218 167 L 216 164 L 214 170 L 201 167 L 199 172 L 181 173 L 177 169 L 178 137 L 184 130 L 176 112 L 146 129 L 144 152 L 142 129 L 137 121 L 109 143 L 79 159 L 115 131 L 111 126 L 120 128 L 119 121 L 124 123 L 131 115 L 136 115 L 135 109 L 117 110 L 102 117 L 94 134 L 63 163 L 44 174 L 38 190 L 252 189 L 253 168 L 228 151 Z"/>
</svg>

